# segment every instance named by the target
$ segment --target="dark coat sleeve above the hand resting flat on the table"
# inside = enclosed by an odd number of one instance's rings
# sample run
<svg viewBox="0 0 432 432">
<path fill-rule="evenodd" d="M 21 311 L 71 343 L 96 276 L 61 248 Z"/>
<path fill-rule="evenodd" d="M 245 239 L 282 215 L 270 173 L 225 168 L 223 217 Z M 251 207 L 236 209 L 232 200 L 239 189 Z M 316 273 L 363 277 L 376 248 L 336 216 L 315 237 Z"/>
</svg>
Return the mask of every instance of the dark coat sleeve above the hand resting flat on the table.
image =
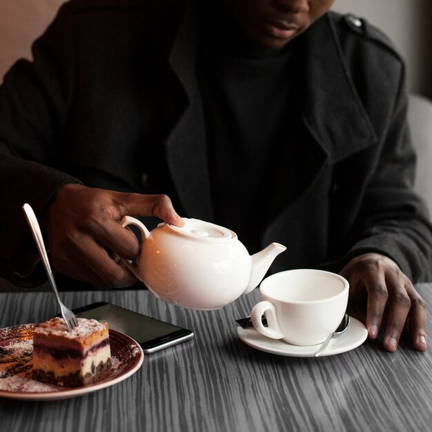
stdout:
<svg viewBox="0 0 432 432">
<path fill-rule="evenodd" d="M 391 257 L 413 282 L 427 282 L 432 280 L 432 227 L 426 204 L 413 191 L 416 156 L 407 107 L 402 74 L 389 126 L 366 181 L 351 248 L 340 264 L 374 251 Z"/>
</svg>

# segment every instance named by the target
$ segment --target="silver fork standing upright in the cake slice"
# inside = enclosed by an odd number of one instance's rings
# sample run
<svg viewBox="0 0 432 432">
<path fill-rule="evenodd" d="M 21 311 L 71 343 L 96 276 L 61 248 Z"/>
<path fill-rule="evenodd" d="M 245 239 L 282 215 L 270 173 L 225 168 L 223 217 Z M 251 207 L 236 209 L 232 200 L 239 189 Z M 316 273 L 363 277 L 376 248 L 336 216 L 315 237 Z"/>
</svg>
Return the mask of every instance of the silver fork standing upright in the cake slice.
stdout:
<svg viewBox="0 0 432 432">
<path fill-rule="evenodd" d="M 46 274 L 48 275 L 48 279 L 50 279 L 52 291 L 54 291 L 57 302 L 59 303 L 61 316 L 63 317 L 64 322 L 66 322 L 68 331 L 72 331 L 78 325 L 78 320 L 75 316 L 75 313 L 73 313 L 63 304 L 63 302 L 61 302 L 59 291 L 57 291 L 57 285 L 55 284 L 54 275 L 52 274 L 50 262 L 48 260 L 48 254 L 46 253 L 45 244 L 43 243 L 41 228 L 39 226 L 39 222 L 37 222 L 35 212 L 33 211 L 30 204 L 23 205 L 23 212 L 26 215 L 28 225 L 30 226 L 33 237 L 35 238 L 35 242 L 39 250 L 39 254 L 41 255 L 43 266 L 45 266 Z"/>
</svg>

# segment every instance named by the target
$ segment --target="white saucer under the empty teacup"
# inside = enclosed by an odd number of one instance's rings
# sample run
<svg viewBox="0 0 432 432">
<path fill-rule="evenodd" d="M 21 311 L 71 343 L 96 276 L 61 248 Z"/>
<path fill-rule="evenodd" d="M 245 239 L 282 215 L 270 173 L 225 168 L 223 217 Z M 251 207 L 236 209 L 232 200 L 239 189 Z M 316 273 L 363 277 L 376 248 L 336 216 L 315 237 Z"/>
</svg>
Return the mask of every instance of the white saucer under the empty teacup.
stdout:
<svg viewBox="0 0 432 432">
<path fill-rule="evenodd" d="M 291 345 L 282 340 L 266 337 L 259 333 L 259 331 L 256 331 L 253 327 L 243 328 L 238 326 L 237 334 L 245 344 L 258 349 L 259 351 L 278 355 L 288 355 L 291 357 L 313 357 L 321 345 Z M 326 351 L 324 351 L 320 357 L 351 351 L 352 349 L 357 348 L 357 346 L 360 346 L 366 340 L 367 336 L 368 331 L 364 324 L 351 317 L 351 323 L 346 329 L 346 332 L 339 337 L 333 338 L 330 341 L 330 344 L 328 344 Z"/>
</svg>

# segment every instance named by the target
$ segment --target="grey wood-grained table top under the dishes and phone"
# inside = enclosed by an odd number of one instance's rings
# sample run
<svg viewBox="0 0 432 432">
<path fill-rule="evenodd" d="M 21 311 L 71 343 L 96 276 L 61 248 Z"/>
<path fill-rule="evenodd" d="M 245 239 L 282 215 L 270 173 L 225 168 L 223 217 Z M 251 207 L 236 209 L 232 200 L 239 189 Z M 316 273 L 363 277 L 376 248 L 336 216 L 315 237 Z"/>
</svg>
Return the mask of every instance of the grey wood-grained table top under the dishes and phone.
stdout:
<svg viewBox="0 0 432 432">
<path fill-rule="evenodd" d="M 432 284 L 418 285 L 432 304 Z M 78 307 L 107 301 L 193 329 L 190 342 L 146 355 L 127 380 L 68 400 L 0 398 L 0 429 L 24 431 L 426 431 L 432 357 L 377 342 L 340 355 L 284 357 L 237 337 L 258 292 L 219 311 L 190 311 L 148 291 L 61 293 Z M 0 293 L 0 327 L 57 314 L 52 293 Z M 431 321 L 428 324 L 432 335 Z"/>
</svg>

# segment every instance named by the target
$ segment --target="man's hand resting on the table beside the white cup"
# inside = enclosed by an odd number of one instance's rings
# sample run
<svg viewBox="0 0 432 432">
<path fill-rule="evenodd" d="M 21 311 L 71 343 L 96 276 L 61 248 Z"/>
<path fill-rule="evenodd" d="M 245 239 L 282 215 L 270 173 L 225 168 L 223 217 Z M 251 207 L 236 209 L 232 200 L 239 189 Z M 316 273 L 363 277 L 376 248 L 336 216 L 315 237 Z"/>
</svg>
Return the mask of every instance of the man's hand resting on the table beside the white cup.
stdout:
<svg viewBox="0 0 432 432">
<path fill-rule="evenodd" d="M 426 304 L 399 266 L 384 255 L 365 253 L 351 259 L 340 272 L 350 284 L 350 300 L 367 295 L 366 327 L 375 339 L 388 311 L 384 348 L 395 351 L 405 325 L 412 346 L 426 350 Z"/>
</svg>

